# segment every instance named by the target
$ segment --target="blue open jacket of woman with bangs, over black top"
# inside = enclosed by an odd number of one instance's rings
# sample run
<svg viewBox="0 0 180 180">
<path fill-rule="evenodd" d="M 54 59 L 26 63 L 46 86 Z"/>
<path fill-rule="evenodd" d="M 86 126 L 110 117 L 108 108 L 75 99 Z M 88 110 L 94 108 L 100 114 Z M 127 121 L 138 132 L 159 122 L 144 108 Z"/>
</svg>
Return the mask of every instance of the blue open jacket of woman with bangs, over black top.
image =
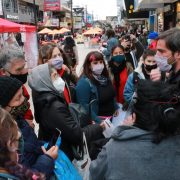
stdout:
<svg viewBox="0 0 180 180">
<path fill-rule="evenodd" d="M 86 76 L 82 76 L 76 86 L 76 101 L 88 110 L 89 103 L 92 100 L 95 101 L 91 105 L 91 118 L 96 123 L 100 123 L 101 119 L 98 117 L 99 108 L 97 87 Z M 114 106 L 115 109 L 118 109 L 115 99 Z"/>
</svg>

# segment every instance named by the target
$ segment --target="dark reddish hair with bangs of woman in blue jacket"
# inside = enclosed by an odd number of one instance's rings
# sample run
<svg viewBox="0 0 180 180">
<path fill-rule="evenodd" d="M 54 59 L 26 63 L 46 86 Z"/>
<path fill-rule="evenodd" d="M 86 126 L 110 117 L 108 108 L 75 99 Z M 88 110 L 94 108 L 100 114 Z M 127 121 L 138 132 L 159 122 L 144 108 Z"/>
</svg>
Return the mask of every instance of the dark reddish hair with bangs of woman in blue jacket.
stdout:
<svg viewBox="0 0 180 180">
<path fill-rule="evenodd" d="M 104 69 L 103 69 L 102 75 L 109 78 L 109 73 L 108 73 L 108 70 L 106 68 L 104 57 L 103 57 L 102 53 L 100 53 L 98 51 L 91 51 L 91 52 L 89 52 L 87 54 L 87 56 L 85 58 L 85 61 L 84 61 L 84 64 L 83 64 L 83 72 L 82 72 L 81 75 L 87 76 L 90 80 L 94 79 L 93 76 L 92 76 L 91 68 L 90 68 L 90 65 L 91 65 L 91 60 L 90 59 L 91 59 L 91 57 L 95 58 L 96 61 L 103 60 Z"/>
</svg>

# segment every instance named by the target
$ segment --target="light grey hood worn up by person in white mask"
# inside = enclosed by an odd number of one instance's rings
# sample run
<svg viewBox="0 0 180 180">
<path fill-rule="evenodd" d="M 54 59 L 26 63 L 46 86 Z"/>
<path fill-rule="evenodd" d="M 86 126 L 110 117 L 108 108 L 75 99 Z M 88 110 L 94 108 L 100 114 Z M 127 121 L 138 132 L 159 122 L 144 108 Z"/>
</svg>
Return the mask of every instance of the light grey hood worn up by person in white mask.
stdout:
<svg viewBox="0 0 180 180">
<path fill-rule="evenodd" d="M 35 67 L 28 76 L 28 84 L 36 92 L 53 92 L 57 95 L 60 93 L 53 86 L 48 64 L 42 64 Z"/>
</svg>

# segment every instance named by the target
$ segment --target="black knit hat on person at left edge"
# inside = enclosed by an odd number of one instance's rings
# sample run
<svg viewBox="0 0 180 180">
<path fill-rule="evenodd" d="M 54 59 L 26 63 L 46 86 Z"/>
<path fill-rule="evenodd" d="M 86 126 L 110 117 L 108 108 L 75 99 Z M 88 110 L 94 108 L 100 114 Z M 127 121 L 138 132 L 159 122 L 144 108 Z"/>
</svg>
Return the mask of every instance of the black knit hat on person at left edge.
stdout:
<svg viewBox="0 0 180 180">
<path fill-rule="evenodd" d="M 20 87 L 22 83 L 19 80 L 0 76 L 0 106 L 6 107 Z"/>
</svg>

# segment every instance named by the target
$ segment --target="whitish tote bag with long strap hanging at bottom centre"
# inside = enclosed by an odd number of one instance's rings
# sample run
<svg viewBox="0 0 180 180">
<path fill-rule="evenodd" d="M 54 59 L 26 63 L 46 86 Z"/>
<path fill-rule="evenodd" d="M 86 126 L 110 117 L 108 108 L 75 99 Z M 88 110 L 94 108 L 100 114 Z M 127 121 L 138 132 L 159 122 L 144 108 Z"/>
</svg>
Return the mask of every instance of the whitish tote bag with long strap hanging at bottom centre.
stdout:
<svg viewBox="0 0 180 180">
<path fill-rule="evenodd" d="M 81 152 L 81 159 L 74 159 L 72 163 L 75 168 L 83 178 L 83 180 L 89 180 L 89 168 L 91 164 L 91 159 L 89 156 L 89 151 L 87 147 L 86 136 L 83 132 L 83 151 Z"/>
</svg>

